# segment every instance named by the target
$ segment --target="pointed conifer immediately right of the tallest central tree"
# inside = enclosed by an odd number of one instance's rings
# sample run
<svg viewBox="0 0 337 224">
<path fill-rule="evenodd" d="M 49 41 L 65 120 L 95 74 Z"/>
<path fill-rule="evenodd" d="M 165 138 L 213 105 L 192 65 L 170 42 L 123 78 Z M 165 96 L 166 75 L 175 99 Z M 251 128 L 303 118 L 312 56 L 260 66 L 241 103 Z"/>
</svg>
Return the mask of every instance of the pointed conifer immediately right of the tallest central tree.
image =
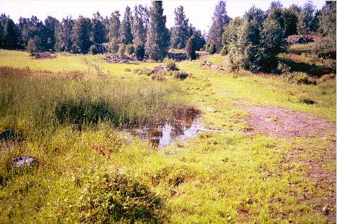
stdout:
<svg viewBox="0 0 337 224">
<path fill-rule="evenodd" d="M 189 19 L 184 14 L 184 7 L 178 6 L 175 9 L 175 26 L 171 33 L 171 47 L 183 49 L 189 36 Z"/>
</svg>

